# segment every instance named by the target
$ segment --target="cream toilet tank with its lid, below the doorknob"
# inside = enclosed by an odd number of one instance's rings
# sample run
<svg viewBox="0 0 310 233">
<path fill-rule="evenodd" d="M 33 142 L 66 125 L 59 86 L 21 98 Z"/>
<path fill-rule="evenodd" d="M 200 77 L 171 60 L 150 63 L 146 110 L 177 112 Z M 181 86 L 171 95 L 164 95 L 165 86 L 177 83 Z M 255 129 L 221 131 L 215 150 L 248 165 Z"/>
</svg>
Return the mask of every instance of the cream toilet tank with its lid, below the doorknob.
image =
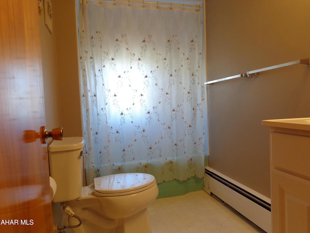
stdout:
<svg viewBox="0 0 310 233">
<path fill-rule="evenodd" d="M 56 181 L 53 202 L 78 199 L 82 191 L 82 137 L 64 137 L 48 146 L 49 174 Z"/>
</svg>

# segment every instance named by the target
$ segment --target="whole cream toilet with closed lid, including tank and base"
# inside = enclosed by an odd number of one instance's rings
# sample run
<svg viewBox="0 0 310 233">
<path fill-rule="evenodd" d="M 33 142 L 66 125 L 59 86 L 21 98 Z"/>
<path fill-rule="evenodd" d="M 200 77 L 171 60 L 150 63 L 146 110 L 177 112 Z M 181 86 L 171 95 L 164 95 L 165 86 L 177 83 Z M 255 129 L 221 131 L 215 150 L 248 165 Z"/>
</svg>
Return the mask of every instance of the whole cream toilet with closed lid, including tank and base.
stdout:
<svg viewBox="0 0 310 233">
<path fill-rule="evenodd" d="M 82 137 L 64 137 L 48 146 L 50 176 L 57 184 L 53 202 L 64 202 L 82 220 L 72 233 L 151 233 L 147 207 L 156 199 L 154 176 L 123 173 L 94 178 L 82 186 Z M 79 225 L 68 217 L 69 225 Z"/>
</svg>

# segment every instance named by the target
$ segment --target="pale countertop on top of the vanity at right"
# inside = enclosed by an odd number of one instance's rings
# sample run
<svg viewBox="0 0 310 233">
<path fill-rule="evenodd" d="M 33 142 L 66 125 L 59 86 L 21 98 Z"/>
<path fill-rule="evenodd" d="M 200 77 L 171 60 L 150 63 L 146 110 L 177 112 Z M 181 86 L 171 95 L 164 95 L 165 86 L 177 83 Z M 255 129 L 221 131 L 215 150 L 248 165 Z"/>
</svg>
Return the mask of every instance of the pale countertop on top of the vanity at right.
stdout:
<svg viewBox="0 0 310 233">
<path fill-rule="evenodd" d="M 310 131 L 310 117 L 263 120 L 264 126 Z"/>
</svg>

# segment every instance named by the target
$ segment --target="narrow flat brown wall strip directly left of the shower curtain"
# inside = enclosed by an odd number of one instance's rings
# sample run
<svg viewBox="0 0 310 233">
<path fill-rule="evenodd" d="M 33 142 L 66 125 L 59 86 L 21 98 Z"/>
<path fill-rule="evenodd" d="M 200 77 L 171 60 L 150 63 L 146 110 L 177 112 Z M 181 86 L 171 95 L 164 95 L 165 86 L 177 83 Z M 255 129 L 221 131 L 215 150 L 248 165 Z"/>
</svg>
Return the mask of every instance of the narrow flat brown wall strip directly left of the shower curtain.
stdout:
<svg viewBox="0 0 310 233">
<path fill-rule="evenodd" d="M 82 136 L 76 0 L 54 0 L 53 14 L 63 134 Z"/>
</svg>

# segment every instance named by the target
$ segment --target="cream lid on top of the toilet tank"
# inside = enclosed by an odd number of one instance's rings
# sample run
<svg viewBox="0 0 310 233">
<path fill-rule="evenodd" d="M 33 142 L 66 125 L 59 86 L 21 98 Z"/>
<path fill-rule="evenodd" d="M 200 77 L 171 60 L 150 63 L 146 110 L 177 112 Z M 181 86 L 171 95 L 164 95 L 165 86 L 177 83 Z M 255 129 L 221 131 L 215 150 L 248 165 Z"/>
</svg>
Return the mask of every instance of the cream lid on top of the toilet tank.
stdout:
<svg viewBox="0 0 310 233">
<path fill-rule="evenodd" d="M 79 150 L 84 147 L 83 137 L 64 137 L 62 140 L 54 140 L 48 146 L 49 151 Z"/>
</svg>

